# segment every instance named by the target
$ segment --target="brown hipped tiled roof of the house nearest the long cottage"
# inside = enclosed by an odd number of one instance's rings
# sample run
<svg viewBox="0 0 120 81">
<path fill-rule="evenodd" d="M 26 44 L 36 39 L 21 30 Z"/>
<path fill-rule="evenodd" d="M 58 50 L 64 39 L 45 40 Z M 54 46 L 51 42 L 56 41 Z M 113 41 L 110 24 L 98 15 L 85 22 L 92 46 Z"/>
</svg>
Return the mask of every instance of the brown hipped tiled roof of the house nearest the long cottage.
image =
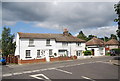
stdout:
<svg viewBox="0 0 120 81">
<path fill-rule="evenodd" d="M 100 45 L 101 46 L 101 45 L 104 45 L 104 44 L 105 44 L 105 42 L 103 40 L 98 39 L 96 37 L 93 37 L 91 40 L 86 42 L 87 46 L 91 46 L 91 45 Z"/>
</svg>

